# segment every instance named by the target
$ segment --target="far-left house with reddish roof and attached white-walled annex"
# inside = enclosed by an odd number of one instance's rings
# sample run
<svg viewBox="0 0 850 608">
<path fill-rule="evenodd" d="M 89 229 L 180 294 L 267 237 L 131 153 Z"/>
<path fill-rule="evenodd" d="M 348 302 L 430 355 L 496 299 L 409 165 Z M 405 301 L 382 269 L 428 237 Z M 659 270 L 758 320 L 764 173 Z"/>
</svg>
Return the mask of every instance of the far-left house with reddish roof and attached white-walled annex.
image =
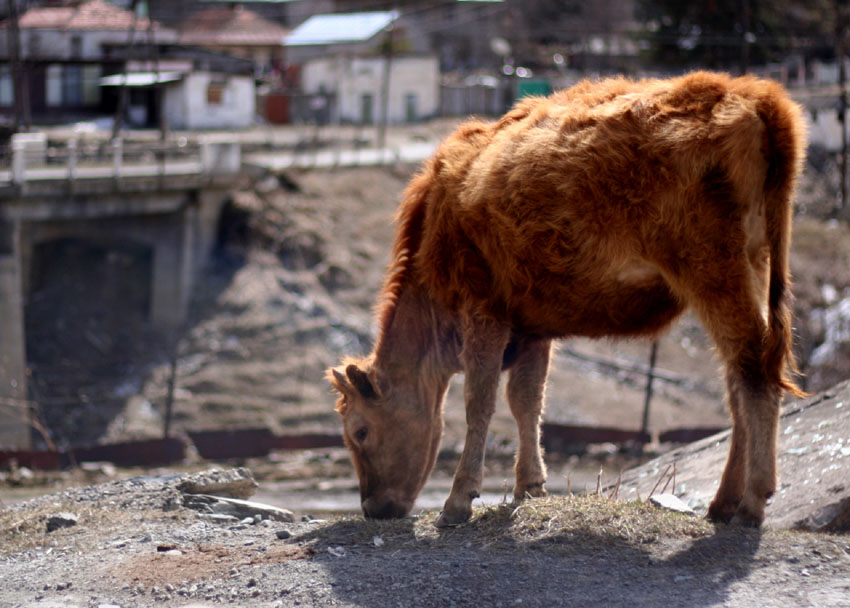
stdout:
<svg viewBox="0 0 850 608">
<path fill-rule="evenodd" d="M 131 127 L 243 128 L 254 121 L 252 59 L 181 45 L 176 30 L 103 0 L 33 8 L 18 24 L 25 122 L 112 117 L 122 89 L 122 120 Z M 8 58 L 11 26 L 0 24 L 0 57 Z M 13 80 L 9 61 L 0 66 L 0 116 L 16 112 Z"/>
</svg>

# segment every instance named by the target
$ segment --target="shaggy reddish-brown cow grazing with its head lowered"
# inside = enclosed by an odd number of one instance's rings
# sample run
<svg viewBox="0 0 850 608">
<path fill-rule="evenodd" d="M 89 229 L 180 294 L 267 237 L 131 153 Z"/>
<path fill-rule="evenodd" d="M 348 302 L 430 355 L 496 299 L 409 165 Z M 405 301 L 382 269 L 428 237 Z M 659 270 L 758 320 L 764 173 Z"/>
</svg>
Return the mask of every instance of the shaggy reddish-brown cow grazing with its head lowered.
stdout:
<svg viewBox="0 0 850 608">
<path fill-rule="evenodd" d="M 514 497 L 545 494 L 552 339 L 653 337 L 691 307 L 725 363 L 734 424 L 708 516 L 759 525 L 780 400 L 801 394 L 786 374 L 804 155 L 800 109 L 778 84 L 705 72 L 583 82 L 460 126 L 404 195 L 372 354 L 328 374 L 366 516 L 412 508 L 459 371 L 466 443 L 437 525 L 471 514 L 504 369 Z"/>
</svg>

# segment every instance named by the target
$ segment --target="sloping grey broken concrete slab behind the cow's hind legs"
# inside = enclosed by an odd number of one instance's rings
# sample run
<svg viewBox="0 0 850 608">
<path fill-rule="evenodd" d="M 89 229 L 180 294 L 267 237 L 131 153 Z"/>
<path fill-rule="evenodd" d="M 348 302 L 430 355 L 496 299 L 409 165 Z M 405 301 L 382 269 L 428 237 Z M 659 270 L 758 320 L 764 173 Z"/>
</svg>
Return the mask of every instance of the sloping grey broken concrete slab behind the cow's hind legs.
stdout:
<svg viewBox="0 0 850 608">
<path fill-rule="evenodd" d="M 718 433 L 626 472 L 620 496 L 646 498 L 672 478 L 673 493 L 704 514 L 726 463 L 729 436 Z M 765 526 L 850 531 L 850 382 L 786 406 L 778 454 L 780 483 Z"/>
</svg>

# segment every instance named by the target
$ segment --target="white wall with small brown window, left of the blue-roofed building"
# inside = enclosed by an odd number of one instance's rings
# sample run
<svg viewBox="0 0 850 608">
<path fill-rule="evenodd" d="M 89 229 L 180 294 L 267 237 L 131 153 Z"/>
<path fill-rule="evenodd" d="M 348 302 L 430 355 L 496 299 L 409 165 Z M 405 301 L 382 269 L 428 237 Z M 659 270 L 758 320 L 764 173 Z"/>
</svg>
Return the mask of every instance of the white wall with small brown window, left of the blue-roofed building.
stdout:
<svg viewBox="0 0 850 608">
<path fill-rule="evenodd" d="M 224 86 L 219 104 L 207 101 L 207 89 L 212 83 Z M 166 88 L 163 111 L 173 129 L 248 127 L 253 124 L 256 111 L 254 79 L 191 72 Z"/>
</svg>

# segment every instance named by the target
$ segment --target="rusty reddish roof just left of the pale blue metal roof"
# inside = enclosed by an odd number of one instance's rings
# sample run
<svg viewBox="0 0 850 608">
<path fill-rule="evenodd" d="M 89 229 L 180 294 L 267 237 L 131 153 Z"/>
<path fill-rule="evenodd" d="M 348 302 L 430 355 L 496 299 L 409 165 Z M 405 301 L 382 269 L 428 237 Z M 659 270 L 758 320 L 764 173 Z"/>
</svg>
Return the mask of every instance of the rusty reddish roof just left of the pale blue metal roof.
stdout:
<svg viewBox="0 0 850 608">
<path fill-rule="evenodd" d="M 208 8 L 178 26 L 181 44 L 279 46 L 289 30 L 237 6 Z"/>
</svg>

